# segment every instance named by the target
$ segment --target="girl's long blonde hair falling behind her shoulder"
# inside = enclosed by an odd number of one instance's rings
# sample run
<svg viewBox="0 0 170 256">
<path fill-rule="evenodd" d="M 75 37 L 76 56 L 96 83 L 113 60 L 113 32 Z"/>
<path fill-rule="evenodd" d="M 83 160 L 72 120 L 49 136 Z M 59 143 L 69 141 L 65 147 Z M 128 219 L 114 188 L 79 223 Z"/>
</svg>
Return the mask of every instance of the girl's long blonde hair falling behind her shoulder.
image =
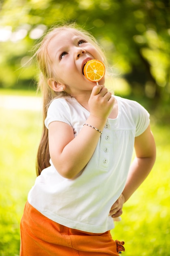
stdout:
<svg viewBox="0 0 170 256">
<path fill-rule="evenodd" d="M 92 34 L 88 31 L 82 29 L 75 23 L 59 25 L 57 27 L 53 27 L 48 31 L 48 33 L 44 36 L 41 43 L 39 43 L 36 47 L 36 52 L 34 57 L 37 58 L 37 63 L 39 65 L 39 69 L 41 70 L 39 76 L 39 83 L 38 89 L 41 90 L 42 97 L 43 97 L 43 132 L 41 141 L 39 144 L 38 152 L 37 152 L 37 161 L 36 161 L 36 170 L 37 175 L 40 175 L 41 171 L 50 166 L 50 153 L 49 153 L 49 145 L 48 145 L 48 129 L 44 125 L 44 120 L 46 119 L 47 110 L 50 105 L 50 102 L 54 98 L 58 97 L 70 97 L 66 92 L 54 92 L 50 86 L 48 85 L 48 79 L 52 77 L 56 77 L 56 73 L 52 70 L 52 63 L 50 60 L 50 56 L 48 55 L 48 44 L 54 36 L 59 36 L 59 34 L 63 31 L 73 31 L 75 35 L 82 36 L 85 38 L 89 43 L 94 45 L 100 55 L 102 56 L 105 65 L 107 66 L 107 61 L 104 55 L 103 49 L 98 45 L 96 39 Z"/>
</svg>

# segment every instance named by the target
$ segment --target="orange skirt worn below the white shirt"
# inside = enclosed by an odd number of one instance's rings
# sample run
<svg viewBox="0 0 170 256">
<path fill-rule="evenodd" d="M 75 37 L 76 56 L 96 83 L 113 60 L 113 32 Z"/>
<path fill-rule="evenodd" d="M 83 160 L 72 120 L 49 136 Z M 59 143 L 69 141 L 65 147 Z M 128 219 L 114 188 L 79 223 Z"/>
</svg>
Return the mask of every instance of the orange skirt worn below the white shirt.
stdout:
<svg viewBox="0 0 170 256">
<path fill-rule="evenodd" d="M 28 202 L 20 231 L 20 256 L 118 256 L 117 246 L 123 244 L 114 241 L 109 231 L 96 234 L 60 225 Z"/>
</svg>

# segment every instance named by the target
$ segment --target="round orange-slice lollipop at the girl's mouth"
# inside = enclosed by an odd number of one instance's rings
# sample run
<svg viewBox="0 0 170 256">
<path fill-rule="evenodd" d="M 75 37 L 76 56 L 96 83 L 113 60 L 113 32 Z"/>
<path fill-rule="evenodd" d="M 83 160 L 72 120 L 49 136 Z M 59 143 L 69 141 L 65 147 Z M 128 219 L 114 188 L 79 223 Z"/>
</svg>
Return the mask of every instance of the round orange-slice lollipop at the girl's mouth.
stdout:
<svg viewBox="0 0 170 256">
<path fill-rule="evenodd" d="M 89 81 L 96 82 L 98 85 L 98 81 L 102 80 L 105 75 L 105 65 L 98 60 L 87 61 L 83 73 Z"/>
</svg>

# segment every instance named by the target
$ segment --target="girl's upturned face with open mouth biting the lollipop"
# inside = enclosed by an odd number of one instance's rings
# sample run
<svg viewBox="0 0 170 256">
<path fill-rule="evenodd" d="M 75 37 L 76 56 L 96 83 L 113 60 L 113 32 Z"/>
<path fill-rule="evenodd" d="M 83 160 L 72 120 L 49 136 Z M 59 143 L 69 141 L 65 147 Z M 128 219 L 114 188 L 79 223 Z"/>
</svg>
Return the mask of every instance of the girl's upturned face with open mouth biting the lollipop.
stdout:
<svg viewBox="0 0 170 256">
<path fill-rule="evenodd" d="M 83 75 L 85 63 L 91 59 L 102 60 L 97 49 L 74 31 L 64 30 L 50 40 L 48 54 L 52 61 L 57 82 L 65 85 L 65 91 L 71 96 L 92 91 L 96 83 L 91 82 Z M 100 81 L 104 85 L 105 79 Z"/>
</svg>

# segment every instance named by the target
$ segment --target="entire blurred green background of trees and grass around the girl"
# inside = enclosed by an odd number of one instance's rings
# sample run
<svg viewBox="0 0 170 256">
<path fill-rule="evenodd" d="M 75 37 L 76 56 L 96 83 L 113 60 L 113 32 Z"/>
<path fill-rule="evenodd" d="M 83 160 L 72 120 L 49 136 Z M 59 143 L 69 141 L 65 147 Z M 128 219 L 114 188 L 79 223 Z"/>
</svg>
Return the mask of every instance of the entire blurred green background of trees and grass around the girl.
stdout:
<svg viewBox="0 0 170 256">
<path fill-rule="evenodd" d="M 170 1 L 0 1 L 0 255 L 18 256 L 20 218 L 41 137 L 39 70 L 31 56 L 51 26 L 76 22 L 105 49 L 106 86 L 150 112 L 157 160 L 111 231 L 125 256 L 170 255 Z M 76 209 L 75 209 L 76 211 Z"/>
</svg>

